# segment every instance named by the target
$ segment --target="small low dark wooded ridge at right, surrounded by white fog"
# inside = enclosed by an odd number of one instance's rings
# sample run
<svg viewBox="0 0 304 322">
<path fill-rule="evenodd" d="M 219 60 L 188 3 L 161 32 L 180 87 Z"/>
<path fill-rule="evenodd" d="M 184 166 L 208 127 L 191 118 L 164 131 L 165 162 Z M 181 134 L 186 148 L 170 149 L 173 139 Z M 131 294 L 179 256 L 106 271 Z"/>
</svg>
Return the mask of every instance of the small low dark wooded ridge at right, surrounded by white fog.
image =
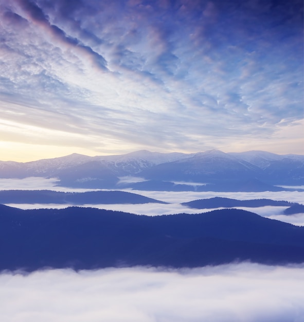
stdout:
<svg viewBox="0 0 304 322">
<path fill-rule="evenodd" d="M 271 199 L 253 199 L 253 200 L 237 200 L 223 197 L 214 197 L 209 199 L 199 199 L 182 203 L 196 209 L 208 208 L 230 208 L 230 207 L 264 207 L 264 206 L 295 206 L 294 203 L 288 201 L 276 201 Z M 298 204 L 297 204 L 298 205 Z M 303 206 L 304 207 L 304 206 Z"/>
</svg>

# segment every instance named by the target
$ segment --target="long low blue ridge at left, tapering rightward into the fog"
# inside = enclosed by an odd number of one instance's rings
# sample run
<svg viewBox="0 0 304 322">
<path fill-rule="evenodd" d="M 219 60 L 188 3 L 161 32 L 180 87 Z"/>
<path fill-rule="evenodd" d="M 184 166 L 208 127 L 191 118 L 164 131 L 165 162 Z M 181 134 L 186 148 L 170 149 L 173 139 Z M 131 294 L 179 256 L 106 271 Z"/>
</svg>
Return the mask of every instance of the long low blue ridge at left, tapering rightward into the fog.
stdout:
<svg viewBox="0 0 304 322">
<path fill-rule="evenodd" d="M 126 191 L 59 192 L 51 190 L 3 190 L 0 204 L 145 204 L 162 203 L 146 196 Z"/>
</svg>

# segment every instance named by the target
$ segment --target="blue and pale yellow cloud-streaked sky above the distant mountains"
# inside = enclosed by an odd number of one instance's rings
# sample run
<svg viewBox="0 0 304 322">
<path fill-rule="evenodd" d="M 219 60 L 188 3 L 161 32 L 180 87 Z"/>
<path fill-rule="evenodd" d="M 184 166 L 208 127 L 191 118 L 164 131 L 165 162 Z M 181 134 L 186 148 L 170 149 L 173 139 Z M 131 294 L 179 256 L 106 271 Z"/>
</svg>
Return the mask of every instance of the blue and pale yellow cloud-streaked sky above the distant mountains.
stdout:
<svg viewBox="0 0 304 322">
<path fill-rule="evenodd" d="M 302 0 L 1 0 L 0 159 L 303 154 Z"/>
</svg>

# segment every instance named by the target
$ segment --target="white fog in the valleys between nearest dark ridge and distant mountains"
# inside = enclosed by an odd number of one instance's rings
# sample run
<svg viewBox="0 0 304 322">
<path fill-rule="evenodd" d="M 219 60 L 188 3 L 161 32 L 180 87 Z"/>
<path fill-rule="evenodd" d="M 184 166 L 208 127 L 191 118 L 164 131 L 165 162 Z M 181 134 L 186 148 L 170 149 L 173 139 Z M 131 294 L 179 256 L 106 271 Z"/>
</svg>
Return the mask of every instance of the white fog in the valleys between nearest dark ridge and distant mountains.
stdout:
<svg viewBox="0 0 304 322">
<path fill-rule="evenodd" d="M 0 189 L 21 189 L 21 190 L 40 190 L 48 189 L 54 191 L 65 192 L 84 192 L 92 191 L 96 189 L 75 189 L 58 187 L 56 184 L 58 181 L 55 178 L 41 178 L 41 177 L 28 177 L 24 179 L 0 179 Z M 161 214 L 175 214 L 175 213 L 202 213 L 211 211 L 213 209 L 193 209 L 181 205 L 183 202 L 188 202 L 196 199 L 207 199 L 215 196 L 221 196 L 224 198 L 232 198 L 238 200 L 250 200 L 250 199 L 272 199 L 272 200 L 286 200 L 290 202 L 303 203 L 304 192 L 303 191 L 263 191 L 263 192 L 195 192 L 195 191 L 141 191 L 141 190 L 124 190 L 133 193 L 138 193 L 149 198 L 153 198 L 159 201 L 165 201 L 169 204 L 160 203 L 147 203 L 147 204 L 85 204 L 84 207 L 95 207 L 99 209 L 117 210 L 131 212 L 135 214 L 146 214 L 147 216 L 158 216 Z M 21 209 L 39 209 L 39 208 L 66 208 L 68 204 L 7 204 L 11 207 Z M 244 209 L 255 212 L 260 216 L 280 220 L 283 222 L 291 223 L 298 226 L 304 226 L 304 213 L 298 213 L 286 216 L 283 211 L 287 207 L 274 207 L 265 206 L 258 208 L 237 207 L 238 209 Z"/>
</svg>

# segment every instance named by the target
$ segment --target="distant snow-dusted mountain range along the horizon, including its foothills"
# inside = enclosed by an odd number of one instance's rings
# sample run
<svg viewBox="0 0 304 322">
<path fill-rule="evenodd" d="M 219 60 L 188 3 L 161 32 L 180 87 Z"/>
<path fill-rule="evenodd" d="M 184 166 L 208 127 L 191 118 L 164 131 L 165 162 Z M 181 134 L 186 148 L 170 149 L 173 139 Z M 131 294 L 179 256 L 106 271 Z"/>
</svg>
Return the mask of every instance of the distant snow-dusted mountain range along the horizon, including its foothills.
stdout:
<svg viewBox="0 0 304 322">
<path fill-rule="evenodd" d="M 264 151 L 71 154 L 27 163 L 0 162 L 1 178 L 58 178 L 59 186 L 172 191 L 280 191 L 304 185 L 304 155 Z M 303 190 L 303 189 L 302 189 Z"/>
</svg>

